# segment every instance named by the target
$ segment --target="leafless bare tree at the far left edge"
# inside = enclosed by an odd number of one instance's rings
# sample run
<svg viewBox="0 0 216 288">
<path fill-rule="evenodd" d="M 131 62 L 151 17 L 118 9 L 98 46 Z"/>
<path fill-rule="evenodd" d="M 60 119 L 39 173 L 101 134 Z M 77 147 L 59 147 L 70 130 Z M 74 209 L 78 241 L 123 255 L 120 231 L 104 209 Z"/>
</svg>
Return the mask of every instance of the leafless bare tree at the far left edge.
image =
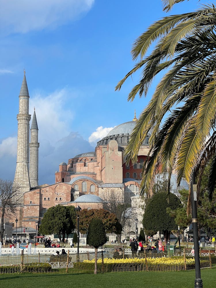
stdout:
<svg viewBox="0 0 216 288">
<path fill-rule="evenodd" d="M 15 213 L 16 207 L 22 199 L 23 193 L 21 192 L 22 186 L 13 181 L 0 179 L 0 239 L 3 240 L 4 234 L 4 217 L 5 213 Z"/>
</svg>

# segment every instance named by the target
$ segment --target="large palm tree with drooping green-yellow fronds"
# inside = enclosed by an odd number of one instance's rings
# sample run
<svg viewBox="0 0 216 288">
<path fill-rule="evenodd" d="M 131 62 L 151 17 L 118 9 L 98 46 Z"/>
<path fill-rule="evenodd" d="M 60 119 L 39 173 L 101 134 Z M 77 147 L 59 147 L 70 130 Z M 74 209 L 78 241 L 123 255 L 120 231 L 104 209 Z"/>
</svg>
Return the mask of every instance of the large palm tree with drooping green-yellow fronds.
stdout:
<svg viewBox="0 0 216 288">
<path fill-rule="evenodd" d="M 164 10 L 183 0 L 164 0 Z M 137 161 L 139 147 L 152 130 L 147 165 L 143 168 L 141 195 L 152 195 L 154 177 L 160 170 L 170 177 L 175 169 L 177 184 L 190 183 L 192 173 L 198 188 L 204 167 L 211 160 L 209 198 L 216 181 L 216 9 L 202 6 L 195 12 L 172 15 L 154 22 L 135 42 L 132 58 L 139 62 L 118 83 L 142 69 L 139 83 L 128 101 L 146 96 L 152 80 L 164 76 L 141 113 L 125 150 L 127 161 Z M 152 43 L 152 52 L 147 54 Z M 169 185 L 168 185 L 169 194 Z"/>
</svg>

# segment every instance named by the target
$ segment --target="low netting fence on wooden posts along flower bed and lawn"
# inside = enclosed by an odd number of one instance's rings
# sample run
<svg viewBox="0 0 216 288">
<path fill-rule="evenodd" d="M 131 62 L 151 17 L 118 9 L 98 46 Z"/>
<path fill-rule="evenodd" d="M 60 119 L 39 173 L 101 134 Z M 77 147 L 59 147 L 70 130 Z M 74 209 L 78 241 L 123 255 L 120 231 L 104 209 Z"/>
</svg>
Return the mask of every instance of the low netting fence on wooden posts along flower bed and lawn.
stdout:
<svg viewBox="0 0 216 288">
<path fill-rule="evenodd" d="M 123 249 L 123 255 L 113 258 L 111 248 L 98 252 L 98 272 L 117 271 L 178 271 L 195 268 L 194 257 L 185 248 L 168 256 L 168 253 L 155 254 L 141 252 L 136 255 Z M 216 264 L 214 250 L 200 250 L 200 266 L 212 268 Z M 89 272 L 94 271 L 94 253 L 69 254 L 53 256 L 36 255 L 2 255 L 0 256 L 0 273 L 16 272 Z"/>
</svg>

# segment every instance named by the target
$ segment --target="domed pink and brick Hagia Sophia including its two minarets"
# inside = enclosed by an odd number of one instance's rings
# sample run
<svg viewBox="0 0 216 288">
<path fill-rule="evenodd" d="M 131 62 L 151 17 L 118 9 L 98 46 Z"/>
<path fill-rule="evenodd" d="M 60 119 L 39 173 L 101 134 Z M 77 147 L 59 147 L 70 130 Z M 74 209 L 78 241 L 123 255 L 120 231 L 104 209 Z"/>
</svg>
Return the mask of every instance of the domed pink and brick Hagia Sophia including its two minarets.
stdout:
<svg viewBox="0 0 216 288">
<path fill-rule="evenodd" d="M 17 164 L 14 177 L 14 182 L 22 185 L 23 193 L 22 201 L 17 208 L 18 229 L 22 232 L 25 227 L 31 234 L 31 231 L 35 231 L 35 221 L 40 224 L 47 209 L 58 204 L 75 207 L 79 205 L 82 209 L 103 208 L 103 200 L 112 194 L 123 201 L 131 201 L 131 206 L 136 211 L 134 219 L 139 220 L 139 233 L 143 214 L 139 185 L 143 164 L 149 151 L 150 135 L 145 138 L 139 149 L 136 164 L 126 165 L 123 157 L 123 151 L 137 121 L 136 113 L 132 121 L 115 126 L 106 137 L 98 141 L 94 151 L 73 156 L 67 163 L 61 162 L 58 171 L 55 172 L 55 183 L 52 185 L 38 185 L 39 129 L 35 111 L 31 128 L 30 119 L 29 91 L 24 72 L 17 115 Z M 134 230 L 134 219 L 130 219 L 131 230 Z M 16 226 L 15 218 L 10 219 L 10 222 Z"/>
</svg>

